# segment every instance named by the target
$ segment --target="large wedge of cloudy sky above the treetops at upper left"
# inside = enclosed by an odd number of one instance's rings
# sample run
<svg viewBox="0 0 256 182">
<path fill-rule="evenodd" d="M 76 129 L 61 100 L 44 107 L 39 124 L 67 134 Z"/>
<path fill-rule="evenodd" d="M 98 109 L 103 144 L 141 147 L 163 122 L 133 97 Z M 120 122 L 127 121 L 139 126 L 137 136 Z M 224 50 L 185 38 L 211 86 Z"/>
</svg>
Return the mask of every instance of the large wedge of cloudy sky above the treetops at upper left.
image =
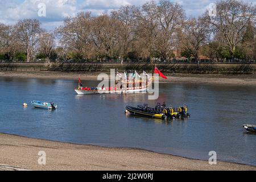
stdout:
<svg viewBox="0 0 256 182">
<path fill-rule="evenodd" d="M 0 23 L 14 24 L 19 19 L 36 18 L 48 30 L 59 26 L 67 16 L 75 16 L 79 11 L 90 11 L 93 15 L 110 13 L 125 5 L 142 5 L 135 0 L 0 0 Z M 38 4 L 46 5 L 46 17 L 38 16 Z"/>
</svg>

